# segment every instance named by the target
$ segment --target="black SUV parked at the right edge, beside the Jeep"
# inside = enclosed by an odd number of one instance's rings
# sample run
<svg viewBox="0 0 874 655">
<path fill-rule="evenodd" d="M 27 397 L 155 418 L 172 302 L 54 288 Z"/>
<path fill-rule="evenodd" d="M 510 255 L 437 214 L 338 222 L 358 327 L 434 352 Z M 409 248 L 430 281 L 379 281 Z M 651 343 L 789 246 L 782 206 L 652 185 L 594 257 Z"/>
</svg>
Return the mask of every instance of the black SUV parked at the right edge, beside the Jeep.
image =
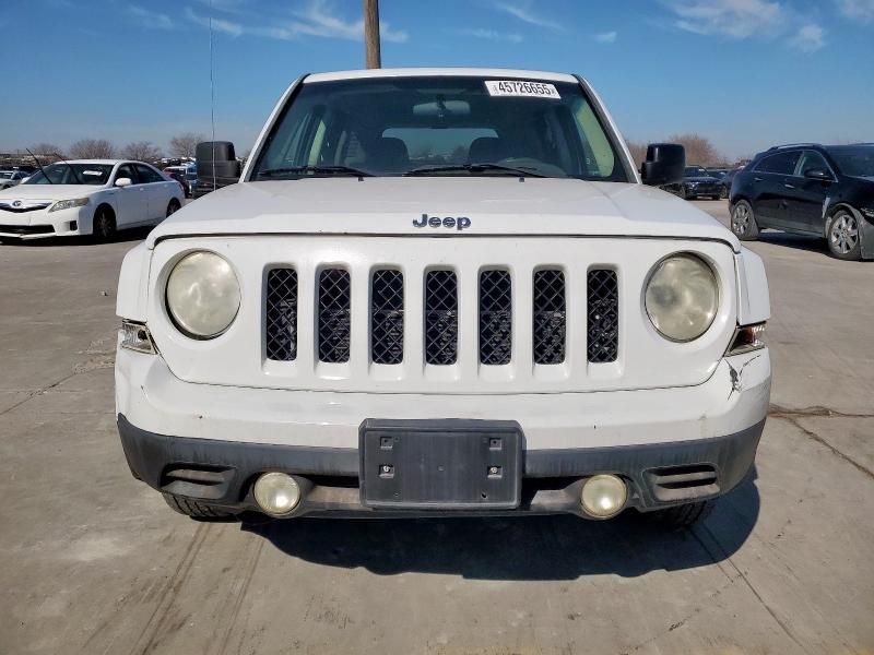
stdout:
<svg viewBox="0 0 874 655">
<path fill-rule="evenodd" d="M 815 235 L 843 260 L 874 259 L 874 143 L 780 145 L 756 155 L 731 186 L 731 229 Z"/>
</svg>

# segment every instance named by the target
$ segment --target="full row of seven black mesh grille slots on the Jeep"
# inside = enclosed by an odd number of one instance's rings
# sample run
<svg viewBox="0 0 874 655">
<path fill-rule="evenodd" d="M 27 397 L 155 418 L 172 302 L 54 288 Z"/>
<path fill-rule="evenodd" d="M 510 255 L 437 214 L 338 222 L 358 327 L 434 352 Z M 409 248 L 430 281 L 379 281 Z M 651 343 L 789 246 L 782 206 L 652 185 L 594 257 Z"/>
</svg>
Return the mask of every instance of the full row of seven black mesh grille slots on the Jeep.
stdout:
<svg viewBox="0 0 874 655">
<path fill-rule="evenodd" d="M 352 342 L 352 284 L 343 269 L 324 269 L 317 276 L 316 336 L 320 361 L 342 364 L 350 359 Z M 404 277 L 397 270 L 371 274 L 369 307 L 370 359 L 397 365 L 404 358 Z M 519 281 L 516 281 L 519 284 Z M 533 273 L 532 353 L 538 365 L 566 359 L 567 291 L 558 270 Z M 509 271 L 481 271 L 479 276 L 479 360 L 507 365 L 512 356 L 513 279 Z M 267 358 L 293 361 L 297 357 L 297 273 L 272 269 L 267 275 L 264 343 Z M 590 270 L 587 276 L 588 359 L 603 364 L 618 356 L 618 281 L 616 272 Z M 448 366 L 458 360 L 459 282 L 453 271 L 425 274 L 423 350 L 428 365 Z"/>
</svg>

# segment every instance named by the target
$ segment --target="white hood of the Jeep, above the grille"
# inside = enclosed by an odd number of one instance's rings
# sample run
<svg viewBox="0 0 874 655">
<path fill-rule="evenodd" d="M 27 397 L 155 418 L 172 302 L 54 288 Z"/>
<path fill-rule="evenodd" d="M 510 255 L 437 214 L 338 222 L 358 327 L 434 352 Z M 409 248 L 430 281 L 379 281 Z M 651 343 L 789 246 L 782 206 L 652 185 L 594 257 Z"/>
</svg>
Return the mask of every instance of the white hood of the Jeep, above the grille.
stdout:
<svg viewBox="0 0 874 655">
<path fill-rule="evenodd" d="M 422 215 L 466 217 L 466 229 L 415 227 Z M 734 235 L 674 195 L 635 183 L 510 177 L 355 177 L 240 182 L 191 203 L 147 238 L 229 234 L 432 237 L 572 235 L 692 238 Z"/>
</svg>

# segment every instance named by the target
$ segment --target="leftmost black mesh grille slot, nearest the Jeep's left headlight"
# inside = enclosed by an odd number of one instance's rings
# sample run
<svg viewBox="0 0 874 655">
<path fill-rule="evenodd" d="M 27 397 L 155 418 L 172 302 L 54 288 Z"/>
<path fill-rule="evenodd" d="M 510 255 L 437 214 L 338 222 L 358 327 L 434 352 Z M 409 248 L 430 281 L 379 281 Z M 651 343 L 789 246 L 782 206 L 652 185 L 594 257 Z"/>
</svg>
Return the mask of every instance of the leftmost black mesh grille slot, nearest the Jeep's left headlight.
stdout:
<svg viewBox="0 0 874 655">
<path fill-rule="evenodd" d="M 297 358 L 297 271 L 273 269 L 267 274 L 264 305 L 267 358 L 294 361 Z"/>
</svg>

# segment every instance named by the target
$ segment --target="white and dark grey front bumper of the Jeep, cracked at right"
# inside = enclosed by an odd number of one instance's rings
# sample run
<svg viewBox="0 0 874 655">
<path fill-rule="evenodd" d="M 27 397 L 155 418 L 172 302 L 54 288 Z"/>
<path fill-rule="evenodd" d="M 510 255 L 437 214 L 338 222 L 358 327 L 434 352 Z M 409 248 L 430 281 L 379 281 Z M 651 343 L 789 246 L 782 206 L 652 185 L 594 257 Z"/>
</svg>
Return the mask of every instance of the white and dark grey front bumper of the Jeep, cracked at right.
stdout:
<svg viewBox="0 0 874 655">
<path fill-rule="evenodd" d="M 422 395 L 293 392 L 192 384 L 158 355 L 121 349 L 121 442 L 151 487 L 232 511 L 257 510 L 251 487 L 280 471 L 311 483 L 304 514 L 584 513 L 581 481 L 621 476 L 641 511 L 722 495 L 748 473 L 768 412 L 767 349 L 724 358 L 704 384 L 622 392 Z M 511 509 L 375 509 L 363 502 L 362 428 L 446 419 L 516 421 L 521 495 Z"/>
</svg>

